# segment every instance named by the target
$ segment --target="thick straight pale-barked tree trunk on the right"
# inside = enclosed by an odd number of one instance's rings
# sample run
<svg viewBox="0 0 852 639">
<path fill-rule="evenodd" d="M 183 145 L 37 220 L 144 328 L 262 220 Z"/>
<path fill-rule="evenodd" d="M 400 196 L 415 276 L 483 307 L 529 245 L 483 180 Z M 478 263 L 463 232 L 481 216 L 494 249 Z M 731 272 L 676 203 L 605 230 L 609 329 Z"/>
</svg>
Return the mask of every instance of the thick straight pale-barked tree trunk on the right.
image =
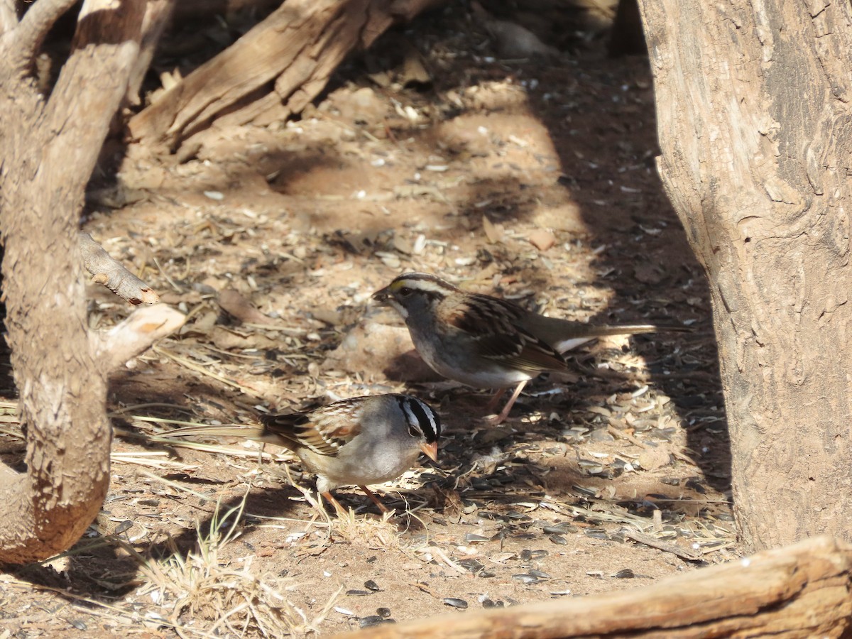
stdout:
<svg viewBox="0 0 852 639">
<path fill-rule="evenodd" d="M 740 537 L 852 538 L 852 9 L 640 5 L 659 173 L 711 281 Z"/>
</svg>

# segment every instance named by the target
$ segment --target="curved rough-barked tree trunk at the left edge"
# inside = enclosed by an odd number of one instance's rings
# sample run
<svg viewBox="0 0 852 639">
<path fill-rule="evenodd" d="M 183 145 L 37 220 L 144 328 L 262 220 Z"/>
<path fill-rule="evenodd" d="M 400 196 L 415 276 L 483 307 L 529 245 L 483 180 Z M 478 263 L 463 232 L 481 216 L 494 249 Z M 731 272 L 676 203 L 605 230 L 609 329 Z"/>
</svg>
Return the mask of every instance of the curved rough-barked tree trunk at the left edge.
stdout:
<svg viewBox="0 0 852 639">
<path fill-rule="evenodd" d="M 66 550 L 97 515 L 109 485 L 109 350 L 130 352 L 117 335 L 86 328 L 77 226 L 138 53 L 145 0 L 87 0 L 72 54 L 45 100 L 30 77 L 32 60 L 73 3 L 38 0 L 19 23 L 14 2 L 0 2 L 3 295 L 27 431 L 26 472 L 4 469 L 0 482 L 0 563 Z M 174 312 L 158 321 L 141 332 L 153 338 L 180 325 Z M 140 334 L 138 323 L 131 328 Z"/>
</svg>

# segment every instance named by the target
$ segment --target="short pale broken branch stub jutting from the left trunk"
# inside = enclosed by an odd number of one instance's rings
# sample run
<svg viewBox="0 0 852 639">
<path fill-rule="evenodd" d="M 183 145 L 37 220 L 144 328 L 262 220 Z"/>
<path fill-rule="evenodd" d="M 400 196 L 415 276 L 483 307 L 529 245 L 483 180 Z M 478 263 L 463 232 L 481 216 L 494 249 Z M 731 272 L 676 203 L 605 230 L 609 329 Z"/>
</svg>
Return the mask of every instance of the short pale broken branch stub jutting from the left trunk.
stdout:
<svg viewBox="0 0 852 639">
<path fill-rule="evenodd" d="M 90 333 L 89 342 L 96 360 L 106 371 L 114 371 L 159 338 L 177 331 L 186 319 L 184 314 L 166 304 L 146 306 L 109 331 Z"/>
</svg>

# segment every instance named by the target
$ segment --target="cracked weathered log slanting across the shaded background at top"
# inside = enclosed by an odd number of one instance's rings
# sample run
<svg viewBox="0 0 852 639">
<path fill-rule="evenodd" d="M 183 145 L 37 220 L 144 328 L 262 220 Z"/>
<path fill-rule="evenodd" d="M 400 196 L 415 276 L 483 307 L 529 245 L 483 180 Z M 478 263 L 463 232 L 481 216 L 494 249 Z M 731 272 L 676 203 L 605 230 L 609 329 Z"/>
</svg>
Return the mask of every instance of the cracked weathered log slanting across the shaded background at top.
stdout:
<svg viewBox="0 0 852 639">
<path fill-rule="evenodd" d="M 395 22 L 444 2 L 288 0 L 131 118 L 130 135 L 176 148 L 225 113 L 231 114 L 229 124 L 265 113 L 271 114 L 267 120 L 287 118 L 320 94 L 351 51 L 369 47 Z"/>
</svg>

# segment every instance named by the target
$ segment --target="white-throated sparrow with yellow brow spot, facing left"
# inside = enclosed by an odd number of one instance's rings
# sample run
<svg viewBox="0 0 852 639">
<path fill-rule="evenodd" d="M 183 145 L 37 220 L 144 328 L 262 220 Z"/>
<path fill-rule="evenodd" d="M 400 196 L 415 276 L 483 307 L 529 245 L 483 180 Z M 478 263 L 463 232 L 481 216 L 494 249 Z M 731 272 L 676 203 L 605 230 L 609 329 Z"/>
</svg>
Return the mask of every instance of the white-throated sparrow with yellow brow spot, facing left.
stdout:
<svg viewBox="0 0 852 639">
<path fill-rule="evenodd" d="M 562 354 L 596 337 L 686 331 L 653 324 L 590 325 L 545 317 L 515 303 L 462 291 L 429 273 L 404 273 L 373 298 L 395 308 L 417 352 L 435 371 L 480 389 L 515 392 L 492 423 L 502 422 L 521 389 L 542 371 L 564 371 Z"/>
</svg>

